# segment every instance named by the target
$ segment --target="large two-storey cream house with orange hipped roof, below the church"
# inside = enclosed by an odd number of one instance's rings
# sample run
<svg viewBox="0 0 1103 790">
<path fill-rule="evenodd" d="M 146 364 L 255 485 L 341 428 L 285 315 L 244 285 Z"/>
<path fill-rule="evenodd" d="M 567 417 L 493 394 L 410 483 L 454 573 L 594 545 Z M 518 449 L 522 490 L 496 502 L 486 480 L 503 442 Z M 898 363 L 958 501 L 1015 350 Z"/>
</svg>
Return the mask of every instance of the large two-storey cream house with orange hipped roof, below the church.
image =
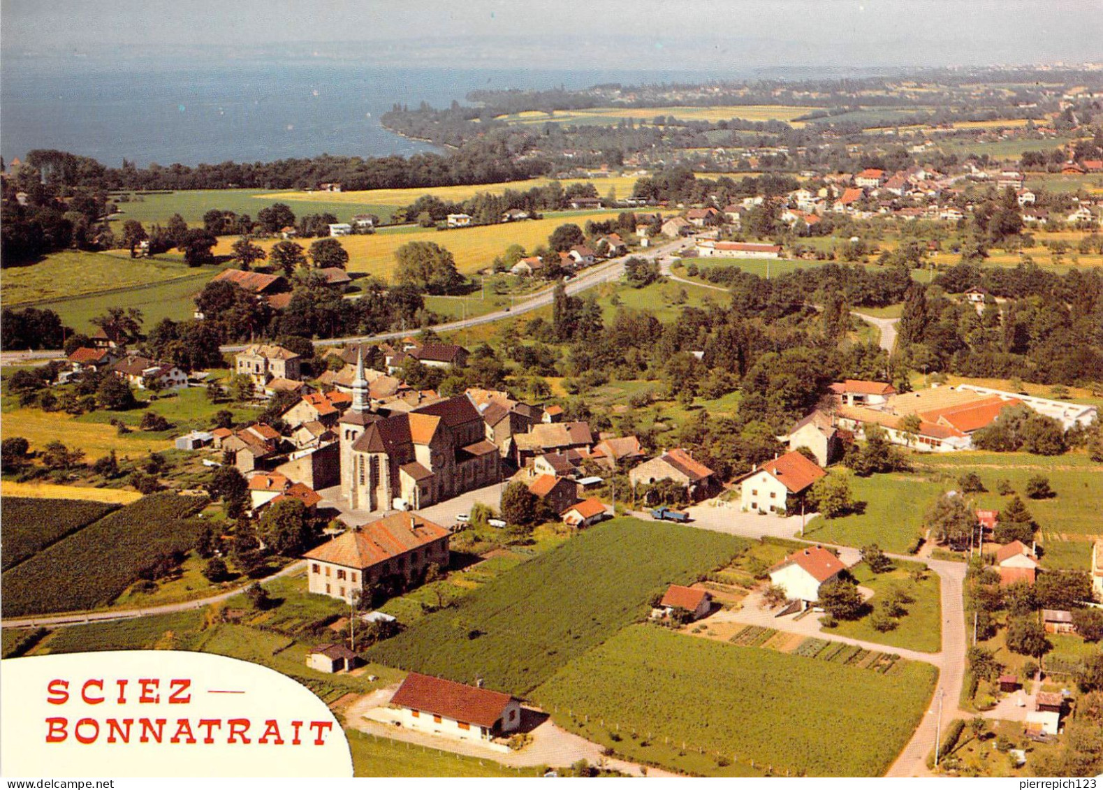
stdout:
<svg viewBox="0 0 1103 790">
<path fill-rule="evenodd" d="M 429 565 L 448 566 L 448 530 L 439 524 L 413 513 L 393 513 L 303 554 L 308 588 L 352 602 L 386 577 L 409 585 Z"/>
</svg>

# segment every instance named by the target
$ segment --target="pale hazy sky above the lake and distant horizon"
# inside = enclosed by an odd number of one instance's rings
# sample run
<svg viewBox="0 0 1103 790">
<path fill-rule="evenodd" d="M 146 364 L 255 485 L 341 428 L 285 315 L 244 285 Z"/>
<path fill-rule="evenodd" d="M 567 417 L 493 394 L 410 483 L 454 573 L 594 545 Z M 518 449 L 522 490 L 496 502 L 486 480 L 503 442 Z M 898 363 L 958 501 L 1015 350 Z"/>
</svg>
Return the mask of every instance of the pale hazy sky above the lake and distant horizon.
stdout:
<svg viewBox="0 0 1103 790">
<path fill-rule="evenodd" d="M 0 46 L 564 70 L 1083 62 L 1103 61 L 1103 0 L 0 0 Z"/>
</svg>

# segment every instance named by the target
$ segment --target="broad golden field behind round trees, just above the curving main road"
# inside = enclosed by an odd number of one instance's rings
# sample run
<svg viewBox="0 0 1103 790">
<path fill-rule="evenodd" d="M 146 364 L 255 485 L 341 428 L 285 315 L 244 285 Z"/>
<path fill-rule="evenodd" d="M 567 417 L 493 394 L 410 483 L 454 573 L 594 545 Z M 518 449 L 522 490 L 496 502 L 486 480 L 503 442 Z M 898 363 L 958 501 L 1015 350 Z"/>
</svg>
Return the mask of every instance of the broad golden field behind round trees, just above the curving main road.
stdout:
<svg viewBox="0 0 1103 790">
<path fill-rule="evenodd" d="M 560 214 L 544 220 L 511 222 L 500 225 L 484 225 L 462 231 L 397 231 L 376 233 L 371 236 L 342 236 L 341 245 L 349 250 L 349 270 L 388 279 L 395 268 L 395 250 L 408 242 L 433 242 L 456 256 L 456 266 L 470 275 L 485 268 L 494 258 L 505 252 L 511 244 L 520 244 L 531 250 L 547 244 L 548 234 L 565 223 L 585 227 L 587 220 L 608 220 L 617 216 L 615 211 Z M 218 239 L 215 255 L 228 255 L 232 236 Z M 266 239 L 258 244 L 269 249 L 278 239 Z M 309 246 L 311 239 L 302 239 Z"/>
</svg>

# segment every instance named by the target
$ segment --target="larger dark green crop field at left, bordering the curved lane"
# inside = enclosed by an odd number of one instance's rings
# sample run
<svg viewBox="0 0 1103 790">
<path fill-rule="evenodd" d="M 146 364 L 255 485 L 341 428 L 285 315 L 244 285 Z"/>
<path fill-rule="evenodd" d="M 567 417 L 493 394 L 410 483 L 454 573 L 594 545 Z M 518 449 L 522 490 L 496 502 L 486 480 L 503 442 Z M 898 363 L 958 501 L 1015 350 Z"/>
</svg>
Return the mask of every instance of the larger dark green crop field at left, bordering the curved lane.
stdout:
<svg viewBox="0 0 1103 790">
<path fill-rule="evenodd" d="M 118 510 L 3 574 L 4 617 L 92 609 L 114 600 L 158 557 L 191 548 L 203 497 L 158 493 Z"/>
</svg>

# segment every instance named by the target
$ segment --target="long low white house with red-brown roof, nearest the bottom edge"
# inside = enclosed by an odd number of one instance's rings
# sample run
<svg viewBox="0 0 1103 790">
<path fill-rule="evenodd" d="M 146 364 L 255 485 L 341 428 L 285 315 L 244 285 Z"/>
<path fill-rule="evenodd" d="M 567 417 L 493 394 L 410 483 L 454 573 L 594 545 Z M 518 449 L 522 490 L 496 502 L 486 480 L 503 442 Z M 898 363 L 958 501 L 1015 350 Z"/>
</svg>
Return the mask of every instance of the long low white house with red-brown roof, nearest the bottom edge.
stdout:
<svg viewBox="0 0 1103 790">
<path fill-rule="evenodd" d="M 417 672 L 406 675 L 390 707 L 405 728 L 460 740 L 491 741 L 521 727 L 516 697 Z"/>
</svg>

